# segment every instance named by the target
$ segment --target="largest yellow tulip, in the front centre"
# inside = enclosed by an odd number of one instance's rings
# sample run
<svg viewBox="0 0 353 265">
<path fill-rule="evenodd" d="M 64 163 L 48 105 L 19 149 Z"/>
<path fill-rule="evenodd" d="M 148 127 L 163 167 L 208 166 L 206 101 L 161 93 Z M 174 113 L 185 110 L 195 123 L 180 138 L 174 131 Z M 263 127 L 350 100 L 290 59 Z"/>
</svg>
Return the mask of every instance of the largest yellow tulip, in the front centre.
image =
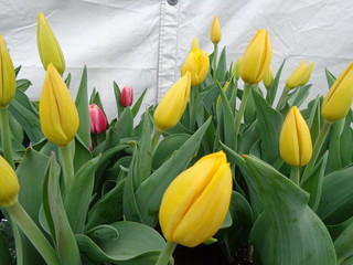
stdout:
<svg viewBox="0 0 353 265">
<path fill-rule="evenodd" d="M 189 247 L 210 240 L 229 208 L 232 171 L 223 151 L 201 158 L 165 190 L 159 221 L 164 237 Z"/>
</svg>

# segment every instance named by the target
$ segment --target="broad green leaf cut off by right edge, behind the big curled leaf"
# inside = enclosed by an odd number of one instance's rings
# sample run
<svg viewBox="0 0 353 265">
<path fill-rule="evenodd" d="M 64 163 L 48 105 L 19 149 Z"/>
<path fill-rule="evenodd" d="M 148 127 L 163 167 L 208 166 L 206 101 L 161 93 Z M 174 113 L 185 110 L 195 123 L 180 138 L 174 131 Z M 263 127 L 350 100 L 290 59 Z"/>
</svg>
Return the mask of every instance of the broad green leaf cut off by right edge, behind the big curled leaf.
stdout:
<svg viewBox="0 0 353 265">
<path fill-rule="evenodd" d="M 339 224 L 353 215 L 353 167 L 323 178 L 318 215 L 325 224 Z"/>
</svg>

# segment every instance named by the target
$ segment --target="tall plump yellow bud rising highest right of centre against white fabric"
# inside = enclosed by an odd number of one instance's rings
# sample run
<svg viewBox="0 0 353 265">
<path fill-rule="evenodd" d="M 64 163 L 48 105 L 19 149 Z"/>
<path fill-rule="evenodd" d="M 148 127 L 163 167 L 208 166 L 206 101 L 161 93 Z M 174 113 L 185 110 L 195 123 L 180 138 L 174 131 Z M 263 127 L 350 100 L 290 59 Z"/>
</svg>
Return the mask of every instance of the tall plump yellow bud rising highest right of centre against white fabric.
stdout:
<svg viewBox="0 0 353 265">
<path fill-rule="evenodd" d="M 258 30 L 244 52 L 240 76 L 250 85 L 264 80 L 272 57 L 272 47 L 266 30 Z"/>
</svg>

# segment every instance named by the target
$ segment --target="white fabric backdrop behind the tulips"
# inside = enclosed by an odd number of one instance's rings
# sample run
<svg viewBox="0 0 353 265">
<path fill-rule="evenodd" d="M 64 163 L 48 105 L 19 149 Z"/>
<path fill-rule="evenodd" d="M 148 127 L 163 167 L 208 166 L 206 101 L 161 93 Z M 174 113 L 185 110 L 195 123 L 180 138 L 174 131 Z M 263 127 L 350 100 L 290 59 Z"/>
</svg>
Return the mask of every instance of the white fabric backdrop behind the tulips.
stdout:
<svg viewBox="0 0 353 265">
<path fill-rule="evenodd" d="M 287 59 L 286 77 L 303 60 L 315 62 L 310 94 L 327 93 L 324 67 L 340 74 L 353 59 L 353 6 L 349 0 L 0 0 L 0 34 L 8 42 L 28 93 L 40 96 L 44 71 L 36 50 L 36 14 L 47 18 L 72 73 L 75 95 L 84 65 L 109 118 L 116 117 L 113 81 L 131 85 L 137 98 L 148 88 L 143 108 L 157 103 L 179 78 L 194 36 L 211 53 L 213 15 L 222 25 L 221 46 L 235 61 L 257 29 L 270 32 L 275 71 Z M 229 64 L 231 62 L 228 62 Z"/>
</svg>

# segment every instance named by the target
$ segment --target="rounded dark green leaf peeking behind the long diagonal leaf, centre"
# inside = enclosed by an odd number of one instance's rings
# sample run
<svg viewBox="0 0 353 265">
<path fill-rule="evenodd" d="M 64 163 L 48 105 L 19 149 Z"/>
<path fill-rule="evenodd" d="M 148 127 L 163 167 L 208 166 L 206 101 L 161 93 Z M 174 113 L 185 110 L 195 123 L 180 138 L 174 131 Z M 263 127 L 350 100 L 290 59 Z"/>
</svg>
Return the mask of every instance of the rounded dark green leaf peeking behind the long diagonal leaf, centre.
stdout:
<svg viewBox="0 0 353 265">
<path fill-rule="evenodd" d="M 152 168 L 156 170 L 163 165 L 188 139 L 190 135 L 175 134 L 163 138 L 153 153 Z"/>
</svg>

